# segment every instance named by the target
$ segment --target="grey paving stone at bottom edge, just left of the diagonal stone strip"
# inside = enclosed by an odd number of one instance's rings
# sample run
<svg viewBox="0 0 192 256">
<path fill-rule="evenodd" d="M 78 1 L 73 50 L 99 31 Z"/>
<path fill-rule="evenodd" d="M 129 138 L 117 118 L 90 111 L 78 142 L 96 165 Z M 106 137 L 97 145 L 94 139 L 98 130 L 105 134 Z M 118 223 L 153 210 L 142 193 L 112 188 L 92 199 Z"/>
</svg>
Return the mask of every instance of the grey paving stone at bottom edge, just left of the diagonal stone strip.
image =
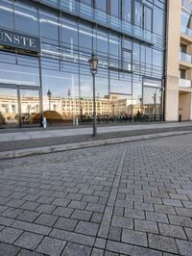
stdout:
<svg viewBox="0 0 192 256">
<path fill-rule="evenodd" d="M 77 243 L 67 243 L 61 256 L 89 256 L 91 247 Z"/>
</svg>

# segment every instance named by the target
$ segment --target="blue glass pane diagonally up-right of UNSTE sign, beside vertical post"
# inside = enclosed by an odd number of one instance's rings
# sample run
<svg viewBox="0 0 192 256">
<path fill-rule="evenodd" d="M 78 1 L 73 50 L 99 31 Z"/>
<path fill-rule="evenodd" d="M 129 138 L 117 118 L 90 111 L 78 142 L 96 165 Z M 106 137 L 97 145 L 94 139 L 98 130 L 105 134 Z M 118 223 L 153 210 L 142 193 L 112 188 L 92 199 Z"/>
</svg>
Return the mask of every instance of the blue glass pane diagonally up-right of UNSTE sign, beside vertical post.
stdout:
<svg viewBox="0 0 192 256">
<path fill-rule="evenodd" d="M 40 37 L 48 38 L 58 43 L 60 23 L 56 15 L 40 11 L 39 27 Z"/>
</svg>

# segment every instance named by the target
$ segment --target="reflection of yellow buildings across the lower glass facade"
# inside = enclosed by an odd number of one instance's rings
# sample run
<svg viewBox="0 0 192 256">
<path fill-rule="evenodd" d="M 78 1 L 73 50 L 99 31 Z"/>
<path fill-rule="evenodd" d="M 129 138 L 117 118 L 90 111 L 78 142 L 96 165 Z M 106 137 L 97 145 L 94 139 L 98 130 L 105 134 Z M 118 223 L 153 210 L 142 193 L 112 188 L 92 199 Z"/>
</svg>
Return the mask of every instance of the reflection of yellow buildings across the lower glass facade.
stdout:
<svg viewBox="0 0 192 256">
<path fill-rule="evenodd" d="M 109 94 L 96 98 L 96 113 L 101 117 L 132 115 L 136 106 L 136 100 L 132 100 L 131 95 Z M 140 108 L 140 105 L 138 107 Z M 49 110 L 49 99 L 44 96 L 43 110 L 55 111 L 62 116 L 63 120 L 73 119 L 74 117 L 91 117 L 93 114 L 93 99 L 91 97 L 52 96 Z M 0 95 L 0 113 L 6 123 L 18 122 L 19 113 L 23 124 L 33 123 L 34 116 L 39 113 L 39 97 L 37 95 L 22 96 L 18 105 L 16 95 Z"/>
</svg>

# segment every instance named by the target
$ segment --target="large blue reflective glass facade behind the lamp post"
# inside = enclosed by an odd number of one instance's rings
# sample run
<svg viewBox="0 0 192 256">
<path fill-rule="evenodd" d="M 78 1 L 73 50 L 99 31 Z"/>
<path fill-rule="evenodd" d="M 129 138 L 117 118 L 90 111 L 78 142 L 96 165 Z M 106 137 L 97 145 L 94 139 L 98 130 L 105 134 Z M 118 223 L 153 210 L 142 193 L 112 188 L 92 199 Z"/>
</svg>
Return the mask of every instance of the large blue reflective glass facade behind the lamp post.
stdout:
<svg viewBox="0 0 192 256">
<path fill-rule="evenodd" d="M 165 2 L 1 0 L 0 28 L 40 38 L 40 52 L 0 45 L 0 125 L 91 121 L 92 52 L 98 122 L 161 119 Z"/>
</svg>

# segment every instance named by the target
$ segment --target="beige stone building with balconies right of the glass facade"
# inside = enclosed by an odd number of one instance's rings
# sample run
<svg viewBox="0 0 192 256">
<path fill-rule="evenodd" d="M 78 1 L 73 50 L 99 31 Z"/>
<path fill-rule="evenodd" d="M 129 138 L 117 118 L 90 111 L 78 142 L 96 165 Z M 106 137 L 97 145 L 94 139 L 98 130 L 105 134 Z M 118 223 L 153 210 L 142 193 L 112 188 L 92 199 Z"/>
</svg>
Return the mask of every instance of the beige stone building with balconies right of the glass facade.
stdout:
<svg viewBox="0 0 192 256">
<path fill-rule="evenodd" d="M 192 120 L 192 1 L 167 1 L 165 120 Z"/>
</svg>

